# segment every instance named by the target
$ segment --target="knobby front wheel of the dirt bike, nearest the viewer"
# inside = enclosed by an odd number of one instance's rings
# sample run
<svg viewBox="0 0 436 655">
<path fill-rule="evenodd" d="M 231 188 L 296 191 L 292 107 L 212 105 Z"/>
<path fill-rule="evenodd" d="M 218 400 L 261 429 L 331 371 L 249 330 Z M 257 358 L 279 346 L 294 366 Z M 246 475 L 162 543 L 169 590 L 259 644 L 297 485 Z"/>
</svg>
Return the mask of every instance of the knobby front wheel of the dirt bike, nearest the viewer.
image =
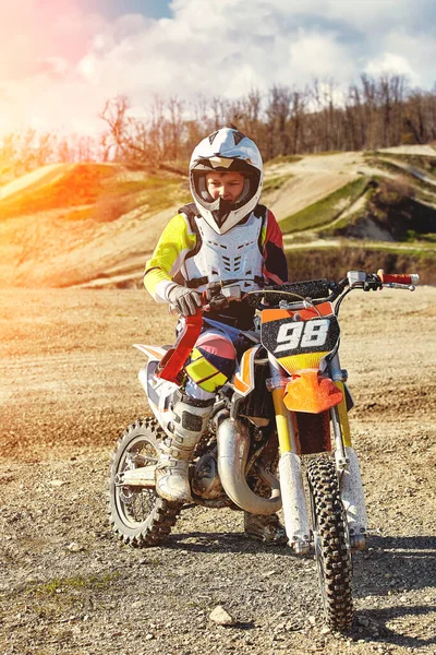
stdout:
<svg viewBox="0 0 436 655">
<path fill-rule="evenodd" d="M 325 456 L 307 464 L 316 567 L 327 624 L 338 632 L 353 621 L 352 562 L 347 515 L 335 464 Z"/>
</svg>

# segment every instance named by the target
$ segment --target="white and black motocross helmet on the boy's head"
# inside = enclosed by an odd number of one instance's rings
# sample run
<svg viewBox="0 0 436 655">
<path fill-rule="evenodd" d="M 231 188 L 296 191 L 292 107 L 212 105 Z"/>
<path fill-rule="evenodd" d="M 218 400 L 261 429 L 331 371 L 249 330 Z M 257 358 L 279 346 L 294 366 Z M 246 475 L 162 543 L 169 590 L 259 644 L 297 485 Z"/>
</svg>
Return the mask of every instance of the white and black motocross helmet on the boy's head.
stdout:
<svg viewBox="0 0 436 655">
<path fill-rule="evenodd" d="M 207 172 L 238 171 L 245 176 L 244 188 L 235 202 L 214 200 L 207 191 Z M 191 193 L 203 218 L 223 235 L 245 218 L 261 198 L 264 169 L 257 145 L 232 128 L 217 130 L 197 145 L 190 163 Z"/>
</svg>

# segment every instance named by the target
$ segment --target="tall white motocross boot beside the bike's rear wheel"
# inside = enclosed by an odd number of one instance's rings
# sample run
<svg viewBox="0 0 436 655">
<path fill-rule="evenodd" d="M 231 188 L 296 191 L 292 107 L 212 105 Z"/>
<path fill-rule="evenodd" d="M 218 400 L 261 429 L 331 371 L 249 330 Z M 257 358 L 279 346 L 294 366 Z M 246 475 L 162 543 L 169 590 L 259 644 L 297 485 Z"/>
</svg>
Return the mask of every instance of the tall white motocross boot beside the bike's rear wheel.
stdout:
<svg viewBox="0 0 436 655">
<path fill-rule="evenodd" d="M 182 391 L 174 393 L 172 437 L 162 441 L 156 466 L 156 491 L 161 498 L 175 502 L 192 500 L 187 475 L 190 461 L 206 431 L 214 402 L 215 398 L 193 398 Z"/>
</svg>

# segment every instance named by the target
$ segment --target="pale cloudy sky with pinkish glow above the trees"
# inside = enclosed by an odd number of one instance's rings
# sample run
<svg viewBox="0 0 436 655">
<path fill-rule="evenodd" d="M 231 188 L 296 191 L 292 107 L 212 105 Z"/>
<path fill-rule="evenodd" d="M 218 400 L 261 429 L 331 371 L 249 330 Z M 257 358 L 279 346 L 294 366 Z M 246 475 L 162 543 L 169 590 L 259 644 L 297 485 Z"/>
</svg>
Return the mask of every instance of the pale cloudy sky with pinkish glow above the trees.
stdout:
<svg viewBox="0 0 436 655">
<path fill-rule="evenodd" d="M 105 102 L 341 86 L 362 73 L 436 82 L 435 0 L 0 0 L 0 139 L 95 134 Z M 191 105 L 192 106 L 192 105 Z"/>
</svg>

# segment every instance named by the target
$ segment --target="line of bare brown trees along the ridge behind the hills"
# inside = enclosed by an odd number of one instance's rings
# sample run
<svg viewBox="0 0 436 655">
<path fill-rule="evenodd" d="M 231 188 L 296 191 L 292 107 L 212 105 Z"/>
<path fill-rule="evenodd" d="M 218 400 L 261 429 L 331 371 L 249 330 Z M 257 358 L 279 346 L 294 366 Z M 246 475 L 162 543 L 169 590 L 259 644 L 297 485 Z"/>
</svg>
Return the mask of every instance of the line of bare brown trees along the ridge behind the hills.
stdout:
<svg viewBox="0 0 436 655">
<path fill-rule="evenodd" d="M 314 80 L 303 88 L 272 85 L 238 99 L 203 97 L 193 104 L 156 97 L 141 118 L 131 109 L 126 96 L 107 100 L 97 138 L 35 130 L 9 134 L 0 146 L 0 175 L 21 175 L 51 162 L 183 163 L 185 168 L 193 147 L 226 124 L 254 139 L 265 160 L 436 142 L 436 84 L 432 91 L 412 88 L 397 74 L 362 74 L 346 90 Z"/>
</svg>

